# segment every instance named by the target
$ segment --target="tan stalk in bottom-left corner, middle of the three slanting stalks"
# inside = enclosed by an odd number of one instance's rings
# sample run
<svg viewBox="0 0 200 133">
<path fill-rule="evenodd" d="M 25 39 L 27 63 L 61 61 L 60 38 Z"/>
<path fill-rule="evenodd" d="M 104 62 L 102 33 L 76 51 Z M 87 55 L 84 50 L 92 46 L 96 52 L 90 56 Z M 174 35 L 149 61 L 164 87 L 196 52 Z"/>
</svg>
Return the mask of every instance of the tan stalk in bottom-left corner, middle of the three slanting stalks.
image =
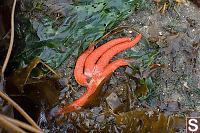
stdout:
<svg viewBox="0 0 200 133">
<path fill-rule="evenodd" d="M 34 132 L 34 133 L 44 133 L 42 130 L 39 130 L 39 129 L 37 129 L 37 128 L 33 127 L 33 126 L 30 126 L 30 125 L 28 125 L 28 124 L 26 124 L 24 122 L 21 122 L 19 120 L 15 120 L 13 118 L 10 118 L 10 117 L 7 117 L 7 116 L 1 115 L 1 114 L 0 114 L 0 117 L 3 117 L 4 119 L 8 120 L 9 122 L 11 122 L 11 123 L 13 123 L 13 124 L 15 124 L 15 125 L 17 125 L 17 126 L 19 126 L 21 128 L 24 128 L 24 129 L 26 129 L 28 131 L 31 131 L 31 132 Z"/>
</svg>

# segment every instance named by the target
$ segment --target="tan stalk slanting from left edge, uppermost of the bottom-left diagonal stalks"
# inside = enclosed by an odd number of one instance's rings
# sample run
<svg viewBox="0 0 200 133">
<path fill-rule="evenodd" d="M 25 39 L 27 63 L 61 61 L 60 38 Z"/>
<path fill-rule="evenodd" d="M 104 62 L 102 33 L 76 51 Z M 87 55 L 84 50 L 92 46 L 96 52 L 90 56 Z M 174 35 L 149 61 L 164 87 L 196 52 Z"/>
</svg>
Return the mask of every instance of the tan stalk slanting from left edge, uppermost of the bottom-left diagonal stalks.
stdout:
<svg viewBox="0 0 200 133">
<path fill-rule="evenodd" d="M 8 101 L 13 107 L 15 107 L 22 116 L 35 128 L 40 129 L 40 127 L 32 120 L 32 118 L 10 97 L 8 97 L 6 94 L 4 94 L 2 91 L 0 91 L 0 96 Z M 40 129 L 41 130 L 41 129 Z"/>
</svg>

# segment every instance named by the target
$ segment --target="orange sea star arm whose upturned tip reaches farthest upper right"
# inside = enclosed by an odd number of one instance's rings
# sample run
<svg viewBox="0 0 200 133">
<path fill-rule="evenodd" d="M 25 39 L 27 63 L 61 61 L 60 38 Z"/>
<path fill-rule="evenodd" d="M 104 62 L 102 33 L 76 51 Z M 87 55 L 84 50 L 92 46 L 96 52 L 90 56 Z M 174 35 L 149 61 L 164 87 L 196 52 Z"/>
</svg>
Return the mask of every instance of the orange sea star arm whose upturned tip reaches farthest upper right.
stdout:
<svg viewBox="0 0 200 133">
<path fill-rule="evenodd" d="M 101 58 L 98 60 L 97 64 L 96 64 L 96 71 L 103 71 L 104 68 L 107 66 L 107 64 L 109 63 L 109 61 L 119 52 L 128 49 L 132 46 L 134 46 L 135 44 L 137 44 L 139 42 L 141 38 L 141 34 L 138 34 L 137 37 L 135 37 L 132 41 L 130 42 L 124 42 L 124 43 L 120 43 L 118 45 L 115 45 L 114 47 L 110 48 L 109 50 L 107 50 L 102 56 Z"/>
</svg>

